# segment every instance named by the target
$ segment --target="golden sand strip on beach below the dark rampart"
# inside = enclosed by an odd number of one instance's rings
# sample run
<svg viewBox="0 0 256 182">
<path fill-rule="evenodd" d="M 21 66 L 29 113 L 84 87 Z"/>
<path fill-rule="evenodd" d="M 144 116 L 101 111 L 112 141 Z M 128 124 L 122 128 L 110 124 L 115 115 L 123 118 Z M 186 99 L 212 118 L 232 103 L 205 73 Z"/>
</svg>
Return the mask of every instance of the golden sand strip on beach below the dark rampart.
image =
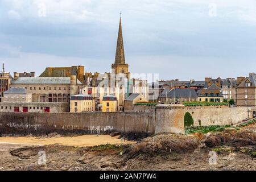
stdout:
<svg viewBox="0 0 256 182">
<path fill-rule="evenodd" d="M 82 135 L 79 137 L 37 138 L 37 137 L 0 137 L 0 144 L 22 144 L 26 146 L 43 146 L 61 144 L 63 146 L 89 147 L 101 144 L 134 144 L 109 135 Z"/>
</svg>

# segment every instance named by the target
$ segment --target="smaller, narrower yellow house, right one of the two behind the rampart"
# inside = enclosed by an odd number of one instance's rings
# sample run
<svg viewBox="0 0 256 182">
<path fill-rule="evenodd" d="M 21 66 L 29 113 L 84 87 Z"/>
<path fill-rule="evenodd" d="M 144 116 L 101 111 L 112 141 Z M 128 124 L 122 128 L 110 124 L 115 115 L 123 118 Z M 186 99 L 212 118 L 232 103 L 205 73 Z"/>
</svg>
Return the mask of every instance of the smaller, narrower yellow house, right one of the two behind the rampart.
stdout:
<svg viewBox="0 0 256 182">
<path fill-rule="evenodd" d="M 117 111 L 117 97 L 104 96 L 102 101 L 102 112 L 116 112 Z"/>
</svg>

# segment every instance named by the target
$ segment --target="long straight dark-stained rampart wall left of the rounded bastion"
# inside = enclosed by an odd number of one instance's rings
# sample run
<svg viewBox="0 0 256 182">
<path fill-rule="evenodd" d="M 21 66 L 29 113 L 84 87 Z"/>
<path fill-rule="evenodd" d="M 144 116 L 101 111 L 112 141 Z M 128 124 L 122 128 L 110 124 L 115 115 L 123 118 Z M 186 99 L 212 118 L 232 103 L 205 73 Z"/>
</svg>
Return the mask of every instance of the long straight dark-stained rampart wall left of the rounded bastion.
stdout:
<svg viewBox="0 0 256 182">
<path fill-rule="evenodd" d="M 0 135 L 155 133 L 154 113 L 0 113 Z"/>
</svg>

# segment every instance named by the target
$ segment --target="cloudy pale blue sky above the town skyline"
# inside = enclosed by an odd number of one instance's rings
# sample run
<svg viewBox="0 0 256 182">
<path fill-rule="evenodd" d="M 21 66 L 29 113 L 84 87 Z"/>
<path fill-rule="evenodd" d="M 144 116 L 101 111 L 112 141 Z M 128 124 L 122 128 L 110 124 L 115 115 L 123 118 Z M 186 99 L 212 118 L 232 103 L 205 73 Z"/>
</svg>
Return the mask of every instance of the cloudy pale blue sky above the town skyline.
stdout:
<svg viewBox="0 0 256 182">
<path fill-rule="evenodd" d="M 131 73 L 204 80 L 256 72 L 254 0 L 0 0 L 5 71 L 110 72 L 122 13 Z"/>
</svg>

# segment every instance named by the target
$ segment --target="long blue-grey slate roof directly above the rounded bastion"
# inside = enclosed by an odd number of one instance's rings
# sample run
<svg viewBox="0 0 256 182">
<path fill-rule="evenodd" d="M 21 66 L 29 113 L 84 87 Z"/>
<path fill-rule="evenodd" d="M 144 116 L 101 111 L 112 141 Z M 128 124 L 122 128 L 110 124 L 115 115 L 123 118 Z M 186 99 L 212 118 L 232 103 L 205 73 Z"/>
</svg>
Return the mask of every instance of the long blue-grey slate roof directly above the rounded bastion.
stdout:
<svg viewBox="0 0 256 182">
<path fill-rule="evenodd" d="M 167 97 L 197 97 L 195 89 L 164 89 L 164 91 L 160 94 L 160 98 L 165 98 L 167 93 Z"/>
</svg>

